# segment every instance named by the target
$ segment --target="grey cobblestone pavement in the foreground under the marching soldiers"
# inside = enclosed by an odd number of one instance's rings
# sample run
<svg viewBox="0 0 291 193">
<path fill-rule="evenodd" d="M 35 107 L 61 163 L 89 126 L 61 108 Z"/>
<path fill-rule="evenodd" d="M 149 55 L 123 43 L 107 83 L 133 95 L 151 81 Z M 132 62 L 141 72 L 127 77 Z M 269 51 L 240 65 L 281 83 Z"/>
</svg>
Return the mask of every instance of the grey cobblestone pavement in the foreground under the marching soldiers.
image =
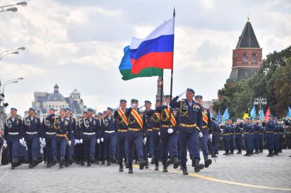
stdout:
<svg viewBox="0 0 291 193">
<path fill-rule="evenodd" d="M 251 157 L 222 153 L 200 173 L 188 166 L 188 176 L 171 167 L 163 173 L 161 165 L 160 171 L 135 166 L 134 174 L 119 173 L 116 164 L 0 166 L 0 192 L 291 192 L 291 149 L 273 158 L 266 158 L 266 150 Z"/>
</svg>

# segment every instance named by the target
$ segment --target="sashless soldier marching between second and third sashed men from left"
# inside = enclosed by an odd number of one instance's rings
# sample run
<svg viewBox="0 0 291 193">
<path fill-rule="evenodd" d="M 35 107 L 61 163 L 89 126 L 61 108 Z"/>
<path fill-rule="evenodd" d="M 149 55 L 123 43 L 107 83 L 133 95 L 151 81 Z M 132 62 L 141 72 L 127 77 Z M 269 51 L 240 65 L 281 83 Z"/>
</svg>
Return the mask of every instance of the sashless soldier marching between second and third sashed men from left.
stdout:
<svg viewBox="0 0 291 193">
<path fill-rule="evenodd" d="M 144 120 L 145 120 L 145 126 L 147 127 L 147 143 L 144 144 L 143 153 L 144 153 L 144 161 L 146 162 L 146 165 L 144 168 L 149 168 L 149 158 L 153 157 L 153 128 L 151 126 L 151 115 L 149 115 L 147 112 L 151 109 L 151 102 L 149 100 L 144 101 Z"/>
</svg>

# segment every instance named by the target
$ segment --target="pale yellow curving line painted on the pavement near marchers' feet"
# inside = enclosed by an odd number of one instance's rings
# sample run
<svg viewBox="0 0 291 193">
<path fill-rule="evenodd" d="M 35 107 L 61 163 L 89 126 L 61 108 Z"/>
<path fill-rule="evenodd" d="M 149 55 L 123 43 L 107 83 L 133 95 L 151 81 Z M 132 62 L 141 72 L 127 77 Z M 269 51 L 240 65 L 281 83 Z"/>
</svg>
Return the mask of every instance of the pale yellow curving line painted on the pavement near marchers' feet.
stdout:
<svg viewBox="0 0 291 193">
<path fill-rule="evenodd" d="M 134 165 L 135 168 L 140 168 L 138 165 Z M 153 170 L 153 169 L 151 169 Z M 180 171 L 178 170 L 168 170 L 169 173 L 179 173 L 181 174 Z M 284 191 L 291 191 L 291 188 L 275 188 L 275 187 L 268 187 L 268 186 L 264 186 L 264 185 L 253 185 L 250 183 L 239 183 L 239 182 L 235 182 L 235 181 L 228 181 L 228 180 L 223 180 L 223 179 L 216 179 L 214 177 L 207 177 L 204 175 L 197 175 L 195 173 L 189 173 L 190 177 L 196 177 L 199 179 L 205 179 L 208 181 L 215 181 L 218 183 L 227 183 L 227 184 L 231 184 L 231 185 L 241 185 L 244 187 L 249 187 L 249 188 L 262 188 L 262 189 L 269 189 L 269 190 L 284 190 Z"/>
</svg>

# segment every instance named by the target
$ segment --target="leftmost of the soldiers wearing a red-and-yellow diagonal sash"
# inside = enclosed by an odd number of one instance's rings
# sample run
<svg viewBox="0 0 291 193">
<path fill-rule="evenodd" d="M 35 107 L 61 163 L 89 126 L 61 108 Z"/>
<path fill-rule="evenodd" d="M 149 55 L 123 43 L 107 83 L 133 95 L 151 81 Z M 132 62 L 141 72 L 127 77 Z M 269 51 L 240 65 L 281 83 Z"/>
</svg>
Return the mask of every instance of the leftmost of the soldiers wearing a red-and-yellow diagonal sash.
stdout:
<svg viewBox="0 0 291 193">
<path fill-rule="evenodd" d="M 119 101 L 119 106 L 114 111 L 114 118 L 117 124 L 117 147 L 118 147 L 118 164 L 119 172 L 123 172 L 123 158 L 125 158 L 125 165 L 127 165 L 127 147 L 126 136 L 128 128 L 128 120 L 125 115 L 127 101 L 122 99 Z M 127 166 L 128 167 L 128 166 Z"/>
</svg>

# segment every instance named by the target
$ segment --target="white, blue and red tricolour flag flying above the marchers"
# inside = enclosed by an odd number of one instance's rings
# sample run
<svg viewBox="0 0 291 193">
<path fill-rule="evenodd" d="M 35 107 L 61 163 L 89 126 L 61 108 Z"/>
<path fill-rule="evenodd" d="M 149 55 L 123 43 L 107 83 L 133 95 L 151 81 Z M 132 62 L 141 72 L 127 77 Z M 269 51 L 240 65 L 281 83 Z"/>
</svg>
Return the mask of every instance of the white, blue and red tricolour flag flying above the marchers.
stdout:
<svg viewBox="0 0 291 193">
<path fill-rule="evenodd" d="M 147 38 L 132 38 L 129 47 L 131 74 L 144 68 L 173 68 L 175 17 L 166 21 Z"/>
</svg>

